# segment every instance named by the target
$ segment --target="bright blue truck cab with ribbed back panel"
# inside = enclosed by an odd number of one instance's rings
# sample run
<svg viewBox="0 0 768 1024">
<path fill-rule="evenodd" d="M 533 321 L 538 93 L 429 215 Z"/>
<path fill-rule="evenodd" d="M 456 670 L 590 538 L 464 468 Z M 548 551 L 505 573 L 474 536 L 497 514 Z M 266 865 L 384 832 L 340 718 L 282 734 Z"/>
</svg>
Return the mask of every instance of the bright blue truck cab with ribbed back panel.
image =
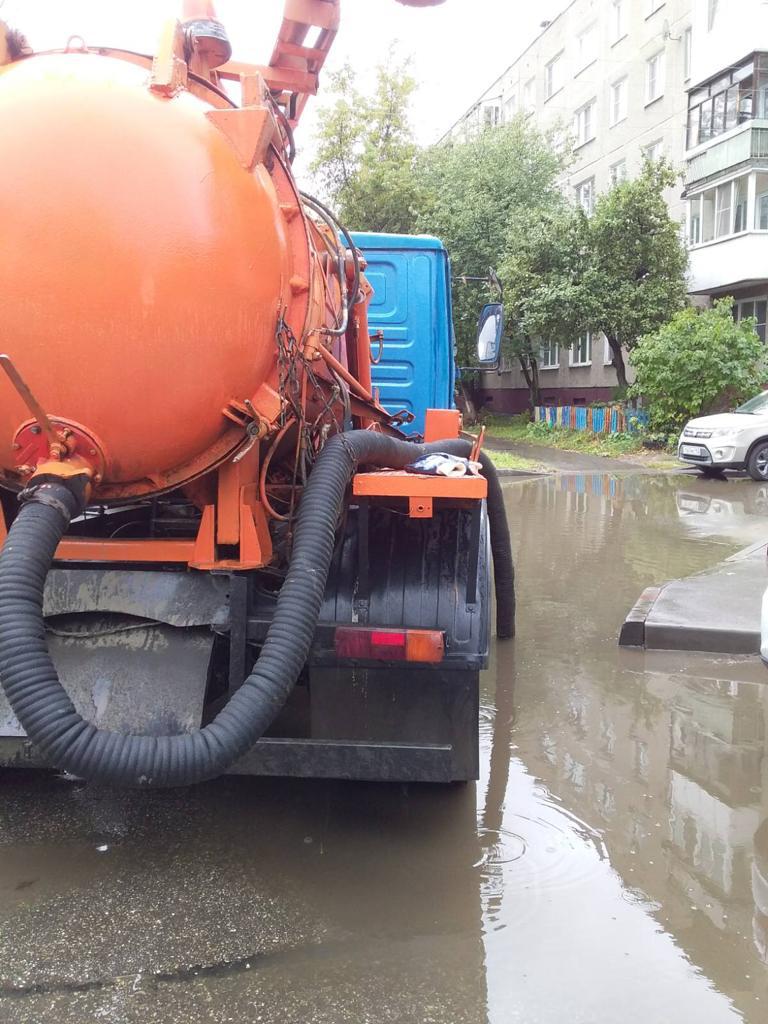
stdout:
<svg viewBox="0 0 768 1024">
<path fill-rule="evenodd" d="M 445 247 L 428 234 L 355 232 L 374 289 L 371 336 L 383 334 L 381 360 L 372 367 L 382 406 L 414 415 L 402 427 L 424 433 L 427 409 L 454 409 L 456 365 L 451 313 L 451 265 Z M 373 358 L 379 342 L 372 342 Z"/>
</svg>

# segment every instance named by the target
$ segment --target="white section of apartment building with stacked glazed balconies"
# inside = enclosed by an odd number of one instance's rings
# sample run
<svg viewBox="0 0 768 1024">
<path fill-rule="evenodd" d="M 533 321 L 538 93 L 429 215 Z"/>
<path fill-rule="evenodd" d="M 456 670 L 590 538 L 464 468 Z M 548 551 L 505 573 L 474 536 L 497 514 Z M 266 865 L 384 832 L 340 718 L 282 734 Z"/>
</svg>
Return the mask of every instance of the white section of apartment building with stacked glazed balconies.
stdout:
<svg viewBox="0 0 768 1024">
<path fill-rule="evenodd" d="M 768 4 L 694 0 L 685 200 L 690 289 L 768 318 Z"/>
</svg>

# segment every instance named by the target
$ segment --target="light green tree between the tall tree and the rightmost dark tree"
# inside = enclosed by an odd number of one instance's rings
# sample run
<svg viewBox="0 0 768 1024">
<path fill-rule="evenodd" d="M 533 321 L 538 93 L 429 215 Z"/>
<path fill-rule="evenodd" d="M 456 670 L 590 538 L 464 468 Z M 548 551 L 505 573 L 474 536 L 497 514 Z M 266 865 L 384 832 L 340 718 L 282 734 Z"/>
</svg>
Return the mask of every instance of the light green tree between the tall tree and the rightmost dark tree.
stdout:
<svg viewBox="0 0 768 1024">
<path fill-rule="evenodd" d="M 500 265 L 507 314 L 508 348 L 528 386 L 531 408 L 540 404 L 542 339 L 568 348 L 591 327 L 584 278 L 588 223 L 581 207 L 558 195 L 540 209 L 511 214 Z"/>
</svg>

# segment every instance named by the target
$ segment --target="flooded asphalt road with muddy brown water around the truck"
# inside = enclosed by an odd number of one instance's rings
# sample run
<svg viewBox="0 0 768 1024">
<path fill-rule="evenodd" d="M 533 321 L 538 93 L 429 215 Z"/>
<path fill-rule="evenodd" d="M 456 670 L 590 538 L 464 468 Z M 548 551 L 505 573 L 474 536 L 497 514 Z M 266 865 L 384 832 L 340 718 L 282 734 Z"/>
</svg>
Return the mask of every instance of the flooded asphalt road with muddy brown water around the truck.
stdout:
<svg viewBox="0 0 768 1024">
<path fill-rule="evenodd" d="M 654 583 L 768 538 L 768 487 L 506 490 L 518 638 L 463 787 L 0 781 L 0 1021 L 764 1024 L 768 672 L 621 650 Z"/>
</svg>

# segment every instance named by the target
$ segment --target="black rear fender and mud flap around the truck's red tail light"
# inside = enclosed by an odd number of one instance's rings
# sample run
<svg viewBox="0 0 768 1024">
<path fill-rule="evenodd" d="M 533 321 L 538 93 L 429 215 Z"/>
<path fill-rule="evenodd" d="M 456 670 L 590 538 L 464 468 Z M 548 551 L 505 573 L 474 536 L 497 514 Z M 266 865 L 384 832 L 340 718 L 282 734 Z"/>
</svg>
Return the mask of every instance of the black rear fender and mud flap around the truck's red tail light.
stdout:
<svg viewBox="0 0 768 1024">
<path fill-rule="evenodd" d="M 323 618 L 441 630 L 445 657 L 438 666 L 340 662 L 332 631 L 318 634 L 309 664 L 312 736 L 362 744 L 359 761 L 371 759 L 373 777 L 477 778 L 490 621 L 484 504 L 431 519 L 364 506 L 334 564 Z"/>
</svg>

